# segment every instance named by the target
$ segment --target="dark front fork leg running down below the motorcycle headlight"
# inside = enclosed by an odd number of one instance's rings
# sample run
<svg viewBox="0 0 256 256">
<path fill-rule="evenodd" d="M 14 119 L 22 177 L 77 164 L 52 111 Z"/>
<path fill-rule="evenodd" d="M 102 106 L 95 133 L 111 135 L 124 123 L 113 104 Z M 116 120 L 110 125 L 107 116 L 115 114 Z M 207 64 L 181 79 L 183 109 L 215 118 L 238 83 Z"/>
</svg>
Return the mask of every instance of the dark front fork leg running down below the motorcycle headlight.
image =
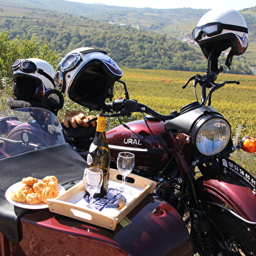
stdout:
<svg viewBox="0 0 256 256">
<path fill-rule="evenodd" d="M 189 187 L 189 216 L 191 221 L 191 240 L 193 246 L 200 255 L 218 255 L 219 251 L 225 251 L 229 255 L 227 246 L 222 244 L 214 236 L 214 224 L 206 216 L 199 200 L 199 191 L 195 181 L 194 166 L 182 153 L 183 146 L 187 144 L 187 135 L 184 133 L 174 134 L 169 132 L 172 149 L 180 172 L 184 176 Z M 185 203 L 185 202 L 184 202 Z"/>
</svg>

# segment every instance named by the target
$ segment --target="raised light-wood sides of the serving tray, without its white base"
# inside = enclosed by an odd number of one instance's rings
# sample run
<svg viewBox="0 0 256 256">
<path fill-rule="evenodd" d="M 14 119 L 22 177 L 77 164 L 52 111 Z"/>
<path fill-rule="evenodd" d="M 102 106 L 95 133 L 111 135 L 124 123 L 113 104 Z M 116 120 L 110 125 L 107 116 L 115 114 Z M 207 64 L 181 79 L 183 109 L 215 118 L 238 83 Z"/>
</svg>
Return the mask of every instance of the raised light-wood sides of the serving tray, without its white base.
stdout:
<svg viewBox="0 0 256 256">
<path fill-rule="evenodd" d="M 110 169 L 110 180 L 114 182 L 121 182 L 117 179 L 117 176 L 120 173 L 118 170 Z M 66 193 L 59 195 L 56 199 L 48 199 L 48 207 L 51 212 L 56 212 L 57 214 L 61 214 L 63 216 L 72 217 L 74 219 L 79 219 L 80 221 L 86 221 L 93 225 L 98 225 L 100 227 L 104 227 L 106 229 L 115 230 L 118 223 L 125 217 L 135 206 L 137 206 L 148 194 L 153 193 L 155 189 L 156 182 L 152 180 L 137 176 L 135 174 L 129 174 L 128 177 L 133 178 L 135 182 L 133 184 L 134 187 L 138 187 L 143 189 L 139 195 L 137 195 L 133 200 L 131 200 L 125 207 L 123 207 L 116 216 L 106 216 L 102 212 L 98 212 L 97 210 L 90 210 L 89 208 L 76 206 L 71 202 L 67 202 L 72 199 L 75 195 L 80 193 L 80 191 L 84 191 L 84 185 L 81 182 L 71 187 Z M 128 185 L 128 183 L 127 183 Z M 88 219 L 91 217 L 91 219 Z"/>
</svg>

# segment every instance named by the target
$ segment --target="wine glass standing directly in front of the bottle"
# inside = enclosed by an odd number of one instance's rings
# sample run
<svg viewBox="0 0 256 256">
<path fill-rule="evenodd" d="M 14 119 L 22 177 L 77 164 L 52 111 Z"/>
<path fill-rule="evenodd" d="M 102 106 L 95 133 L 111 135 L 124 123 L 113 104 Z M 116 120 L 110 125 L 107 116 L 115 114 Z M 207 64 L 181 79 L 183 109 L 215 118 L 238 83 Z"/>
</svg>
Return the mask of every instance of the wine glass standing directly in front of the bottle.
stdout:
<svg viewBox="0 0 256 256">
<path fill-rule="evenodd" d="M 88 208 L 94 209 L 93 195 L 101 189 L 101 185 L 103 184 L 103 170 L 96 167 L 87 167 L 84 170 L 83 183 L 84 188 L 89 193 Z"/>
</svg>

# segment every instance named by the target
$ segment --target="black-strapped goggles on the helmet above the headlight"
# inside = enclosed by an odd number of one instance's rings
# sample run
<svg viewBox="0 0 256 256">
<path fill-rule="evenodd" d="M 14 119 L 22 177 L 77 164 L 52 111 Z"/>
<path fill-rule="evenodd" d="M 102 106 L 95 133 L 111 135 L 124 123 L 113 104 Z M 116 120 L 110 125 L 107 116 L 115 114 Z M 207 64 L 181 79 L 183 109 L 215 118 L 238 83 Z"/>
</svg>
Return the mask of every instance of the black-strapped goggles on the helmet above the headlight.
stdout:
<svg viewBox="0 0 256 256">
<path fill-rule="evenodd" d="M 206 35 L 207 37 L 219 35 L 223 31 L 223 29 L 248 33 L 247 27 L 241 27 L 239 25 L 222 24 L 221 22 L 213 22 L 202 25 L 200 27 L 195 27 L 195 29 L 193 29 L 192 31 L 192 39 L 194 39 L 195 41 L 200 40 L 202 38 L 202 34 Z"/>
</svg>

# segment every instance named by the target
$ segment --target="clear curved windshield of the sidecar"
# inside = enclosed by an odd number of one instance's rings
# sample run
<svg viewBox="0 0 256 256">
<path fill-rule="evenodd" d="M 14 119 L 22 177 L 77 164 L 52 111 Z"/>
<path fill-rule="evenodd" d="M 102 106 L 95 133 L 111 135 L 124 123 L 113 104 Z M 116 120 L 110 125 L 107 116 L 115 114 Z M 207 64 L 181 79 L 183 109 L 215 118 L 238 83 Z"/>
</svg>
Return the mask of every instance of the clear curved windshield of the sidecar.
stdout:
<svg viewBox="0 0 256 256">
<path fill-rule="evenodd" d="M 17 108 L 0 112 L 0 159 L 65 143 L 61 123 L 49 110 Z"/>
</svg>

